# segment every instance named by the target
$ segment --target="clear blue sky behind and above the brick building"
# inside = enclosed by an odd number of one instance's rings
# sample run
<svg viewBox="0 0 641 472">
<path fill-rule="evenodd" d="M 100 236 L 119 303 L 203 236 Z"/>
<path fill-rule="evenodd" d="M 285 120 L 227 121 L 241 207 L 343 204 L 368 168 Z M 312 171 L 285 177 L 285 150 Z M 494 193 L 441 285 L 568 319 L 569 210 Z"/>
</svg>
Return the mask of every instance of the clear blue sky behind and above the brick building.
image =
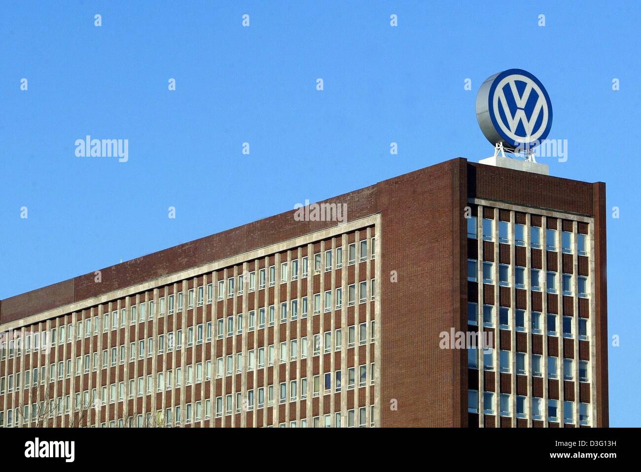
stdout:
<svg viewBox="0 0 641 472">
<path fill-rule="evenodd" d="M 551 96 L 550 138 L 568 141 L 567 162 L 545 161 L 551 174 L 604 181 L 620 208 L 608 219 L 610 419 L 641 425 L 641 13 L 573 4 L 3 1 L 0 298 L 488 157 L 478 87 L 526 69 Z M 77 158 L 86 134 L 128 139 L 129 161 Z"/>
</svg>

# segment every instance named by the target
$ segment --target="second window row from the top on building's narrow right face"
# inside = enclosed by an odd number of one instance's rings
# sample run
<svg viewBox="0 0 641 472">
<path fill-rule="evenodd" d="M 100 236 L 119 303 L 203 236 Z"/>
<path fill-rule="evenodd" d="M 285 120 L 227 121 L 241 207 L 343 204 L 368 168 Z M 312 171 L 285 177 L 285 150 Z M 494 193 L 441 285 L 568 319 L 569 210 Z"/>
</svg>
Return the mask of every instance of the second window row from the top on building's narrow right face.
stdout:
<svg viewBox="0 0 641 472">
<path fill-rule="evenodd" d="M 499 264 L 499 286 L 510 287 L 510 268 L 509 264 Z M 526 288 L 525 267 L 514 266 L 514 286 L 515 288 Z M 541 272 L 540 269 L 530 269 L 530 286 L 533 291 L 541 291 Z M 556 290 L 556 272 L 547 271 L 547 293 L 557 293 Z M 563 295 L 572 296 L 574 293 L 574 284 L 572 283 L 573 275 L 571 273 L 562 273 L 562 291 Z M 469 282 L 478 282 L 478 261 L 476 259 L 467 259 L 467 280 Z M 483 261 L 483 283 L 494 284 L 494 263 Z M 586 298 L 588 296 L 588 277 L 587 275 L 578 276 L 578 295 Z"/>
</svg>

